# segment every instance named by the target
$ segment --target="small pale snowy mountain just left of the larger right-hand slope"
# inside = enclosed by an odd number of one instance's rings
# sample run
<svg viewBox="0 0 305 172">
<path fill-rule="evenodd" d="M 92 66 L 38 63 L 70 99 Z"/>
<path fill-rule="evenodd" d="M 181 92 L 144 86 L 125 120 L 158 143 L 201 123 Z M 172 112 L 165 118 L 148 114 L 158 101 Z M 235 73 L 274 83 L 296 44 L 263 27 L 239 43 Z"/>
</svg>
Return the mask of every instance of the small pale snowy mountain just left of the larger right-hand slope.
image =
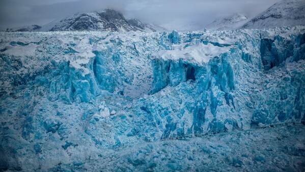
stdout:
<svg viewBox="0 0 305 172">
<path fill-rule="evenodd" d="M 244 14 L 236 13 L 229 17 L 214 20 L 206 28 L 211 30 L 233 30 L 241 27 L 247 21 L 248 18 Z"/>
</svg>

